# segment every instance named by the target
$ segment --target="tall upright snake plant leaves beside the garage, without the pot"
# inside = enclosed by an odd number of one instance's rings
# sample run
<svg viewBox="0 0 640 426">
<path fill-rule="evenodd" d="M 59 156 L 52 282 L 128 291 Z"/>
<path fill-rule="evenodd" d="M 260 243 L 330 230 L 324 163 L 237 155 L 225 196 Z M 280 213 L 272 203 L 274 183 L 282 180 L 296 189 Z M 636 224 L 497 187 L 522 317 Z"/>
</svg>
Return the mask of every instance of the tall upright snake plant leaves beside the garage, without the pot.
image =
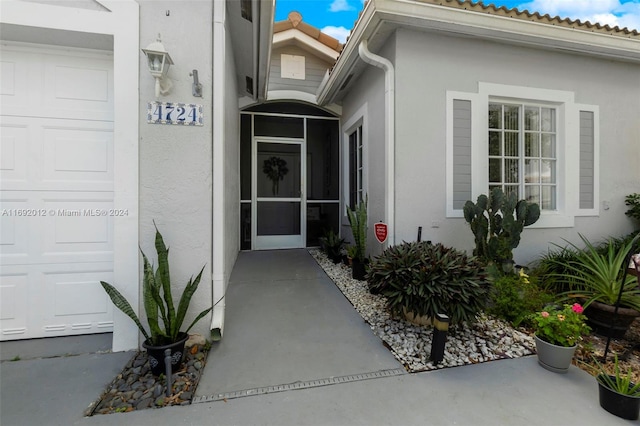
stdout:
<svg viewBox="0 0 640 426">
<path fill-rule="evenodd" d="M 149 262 L 149 259 L 147 259 L 147 256 L 140 250 L 144 261 L 142 295 L 150 333 L 142 326 L 131 304 L 114 286 L 104 281 L 100 281 L 100 284 L 102 284 L 102 288 L 107 292 L 113 304 L 136 323 L 147 341 L 153 346 L 162 346 L 178 340 L 178 334 L 182 331 L 182 323 L 189 309 L 191 298 L 200 284 L 204 266 L 195 279 L 193 277 L 189 279 L 180 297 L 178 309 L 176 310 L 171 294 L 169 249 L 164 244 L 162 235 L 157 227 L 155 246 L 156 252 L 158 253 L 158 268 L 155 271 L 153 270 L 153 265 Z M 184 332 L 188 333 L 211 309 L 212 308 L 208 308 L 200 312 Z M 160 319 L 162 319 L 164 327 L 160 326 Z"/>
</svg>

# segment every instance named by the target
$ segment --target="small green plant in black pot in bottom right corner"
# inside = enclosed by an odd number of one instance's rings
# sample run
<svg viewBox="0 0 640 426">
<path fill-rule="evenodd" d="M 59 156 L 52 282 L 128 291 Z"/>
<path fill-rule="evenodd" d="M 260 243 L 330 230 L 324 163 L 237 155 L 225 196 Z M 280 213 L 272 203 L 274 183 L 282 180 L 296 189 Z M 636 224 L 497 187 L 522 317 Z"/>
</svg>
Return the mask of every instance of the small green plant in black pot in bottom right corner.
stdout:
<svg viewBox="0 0 640 426">
<path fill-rule="evenodd" d="M 597 361 L 596 364 L 600 367 L 600 373 L 596 377 L 600 406 L 623 419 L 637 420 L 640 413 L 640 383 L 631 381 L 631 367 L 626 374 L 622 374 L 617 356 L 613 374 L 605 371 Z"/>
</svg>

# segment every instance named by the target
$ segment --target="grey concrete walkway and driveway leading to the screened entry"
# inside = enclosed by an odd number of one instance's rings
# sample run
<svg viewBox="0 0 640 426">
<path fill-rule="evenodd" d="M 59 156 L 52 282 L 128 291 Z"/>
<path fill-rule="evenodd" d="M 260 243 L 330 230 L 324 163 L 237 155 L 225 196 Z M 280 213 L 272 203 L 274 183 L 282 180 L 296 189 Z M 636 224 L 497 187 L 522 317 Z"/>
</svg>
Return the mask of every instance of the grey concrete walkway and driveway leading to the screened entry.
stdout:
<svg viewBox="0 0 640 426">
<path fill-rule="evenodd" d="M 640 424 L 601 409 L 588 374 L 535 357 L 405 373 L 304 250 L 242 253 L 226 306 L 194 404 L 83 418 L 133 354 L 21 355 L 0 364 L 0 425 Z"/>
</svg>

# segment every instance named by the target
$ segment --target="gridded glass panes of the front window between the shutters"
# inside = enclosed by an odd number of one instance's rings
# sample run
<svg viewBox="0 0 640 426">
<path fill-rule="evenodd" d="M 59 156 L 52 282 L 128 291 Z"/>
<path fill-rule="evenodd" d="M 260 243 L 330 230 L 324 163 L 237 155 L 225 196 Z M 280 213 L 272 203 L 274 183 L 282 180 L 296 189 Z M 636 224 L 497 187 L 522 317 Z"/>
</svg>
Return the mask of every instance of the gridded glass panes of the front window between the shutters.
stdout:
<svg viewBox="0 0 640 426">
<path fill-rule="evenodd" d="M 489 187 L 537 203 L 542 210 L 557 207 L 556 108 L 489 103 Z"/>
</svg>

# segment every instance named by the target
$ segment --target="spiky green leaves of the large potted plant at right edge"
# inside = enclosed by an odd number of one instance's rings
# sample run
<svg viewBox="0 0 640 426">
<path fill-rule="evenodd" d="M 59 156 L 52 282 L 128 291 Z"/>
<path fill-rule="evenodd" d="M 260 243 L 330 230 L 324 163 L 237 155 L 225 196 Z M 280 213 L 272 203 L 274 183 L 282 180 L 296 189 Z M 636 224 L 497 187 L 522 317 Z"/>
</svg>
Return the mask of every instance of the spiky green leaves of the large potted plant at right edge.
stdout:
<svg viewBox="0 0 640 426">
<path fill-rule="evenodd" d="M 640 288 L 636 277 L 627 275 L 624 283 L 624 265 L 627 254 L 640 238 L 640 233 L 632 240 L 619 245 L 612 240 L 606 246 L 598 248 L 587 238 L 580 235 L 584 249 L 569 243 L 575 249 L 574 256 L 551 259 L 563 270 L 561 273 L 553 273 L 551 276 L 562 284 L 566 284 L 571 290 L 564 293 L 566 297 L 584 299 L 584 306 L 592 302 L 600 302 L 614 305 L 618 300 L 622 286 L 620 306 L 632 308 L 640 312 Z"/>
</svg>

